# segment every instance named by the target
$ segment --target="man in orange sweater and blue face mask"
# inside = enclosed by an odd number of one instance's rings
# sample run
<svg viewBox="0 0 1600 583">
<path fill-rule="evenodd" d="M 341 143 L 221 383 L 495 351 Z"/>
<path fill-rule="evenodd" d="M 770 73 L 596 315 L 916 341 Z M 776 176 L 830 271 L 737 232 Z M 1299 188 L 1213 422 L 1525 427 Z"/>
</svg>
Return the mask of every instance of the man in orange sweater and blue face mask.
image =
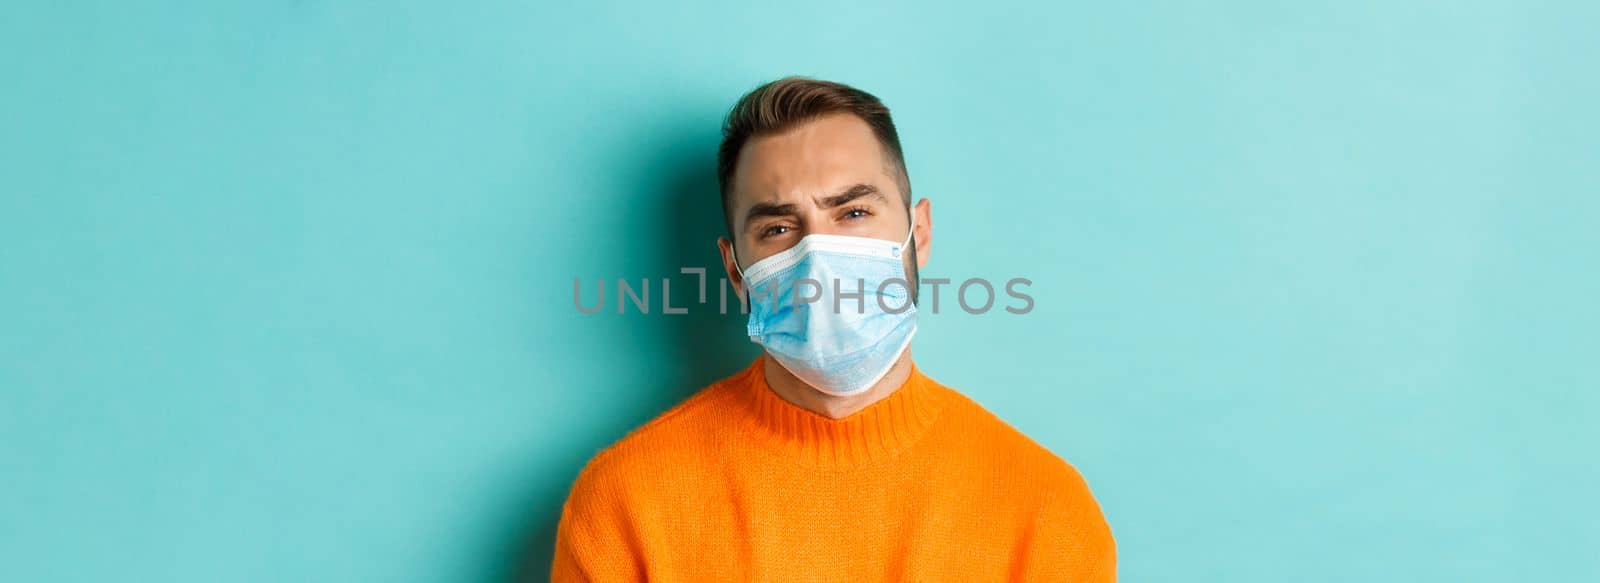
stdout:
<svg viewBox="0 0 1600 583">
<path fill-rule="evenodd" d="M 810 78 L 734 104 L 723 267 L 765 354 L 589 461 L 557 581 L 1114 581 L 1078 472 L 912 362 L 933 248 L 888 109 Z"/>
</svg>

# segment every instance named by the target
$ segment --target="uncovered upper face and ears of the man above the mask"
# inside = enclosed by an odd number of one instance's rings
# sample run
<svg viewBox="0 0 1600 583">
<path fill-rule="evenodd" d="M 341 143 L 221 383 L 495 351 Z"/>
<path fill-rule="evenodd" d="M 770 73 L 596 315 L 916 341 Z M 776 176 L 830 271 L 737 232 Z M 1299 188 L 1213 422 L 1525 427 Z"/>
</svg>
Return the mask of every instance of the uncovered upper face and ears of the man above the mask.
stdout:
<svg viewBox="0 0 1600 583">
<path fill-rule="evenodd" d="M 728 279 L 741 283 L 741 269 L 778 255 L 810 234 L 906 240 L 910 227 L 904 194 L 872 128 L 850 114 L 832 114 L 789 131 L 752 138 L 739 154 L 730 183 L 733 240 L 718 240 Z M 928 263 L 931 221 L 928 200 L 917 216 L 915 266 Z M 734 253 L 738 251 L 738 253 Z M 738 255 L 734 258 L 734 255 Z"/>
</svg>

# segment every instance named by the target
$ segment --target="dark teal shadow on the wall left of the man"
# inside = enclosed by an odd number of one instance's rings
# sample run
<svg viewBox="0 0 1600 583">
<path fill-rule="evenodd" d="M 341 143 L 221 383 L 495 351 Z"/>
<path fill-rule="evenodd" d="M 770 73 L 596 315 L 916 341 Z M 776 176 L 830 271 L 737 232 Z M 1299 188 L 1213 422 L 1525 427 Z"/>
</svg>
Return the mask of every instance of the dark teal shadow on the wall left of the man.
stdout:
<svg viewBox="0 0 1600 583">
<path fill-rule="evenodd" d="M 648 203 L 619 210 L 619 216 L 635 218 L 627 231 L 629 237 L 637 237 L 642 243 L 634 248 L 638 253 L 651 255 L 646 263 L 650 272 L 638 275 L 651 275 L 653 293 L 659 293 L 661 277 L 672 277 L 672 304 L 686 308 L 688 312 L 664 316 L 659 312 L 659 298 L 653 298 L 650 316 L 627 316 L 640 324 L 642 333 L 659 335 L 654 343 L 669 352 L 666 357 L 640 359 L 638 365 L 670 362 L 674 368 L 659 372 L 661 383 L 658 386 L 642 386 L 640 400 L 643 404 L 621 412 L 614 431 L 595 439 L 595 447 L 614 442 L 699 388 L 733 375 L 758 354 L 755 344 L 750 344 L 744 335 L 744 316 L 739 312 L 738 296 L 733 295 L 731 287 L 728 288 L 728 314 L 718 312 L 717 285 L 725 275 L 722 256 L 717 253 L 717 237 L 723 235 L 726 227 L 717 189 L 717 141 L 720 136 L 715 128 L 712 120 L 669 133 L 666 143 L 670 146 L 664 147 L 653 163 L 646 163 L 635 181 L 640 184 L 640 199 Z M 634 205 L 635 202 L 626 200 L 622 203 Z M 650 245 L 648 242 L 662 243 Z M 640 264 L 637 261 L 627 263 Z M 706 267 L 704 304 L 698 303 L 699 277 L 680 274 L 678 267 Z M 608 296 L 608 300 L 616 301 L 614 296 Z M 605 316 L 610 314 L 597 314 L 597 317 Z M 643 418 L 627 418 L 627 413 L 642 408 L 646 410 Z M 549 580 L 555 529 L 562 503 L 566 500 L 566 485 L 589 461 L 589 452 L 592 448 L 565 452 L 566 458 L 555 466 L 562 479 L 549 476 L 550 479 L 541 484 L 541 487 L 549 485 L 549 489 L 534 500 L 533 516 L 523 525 L 525 535 L 517 543 L 514 564 L 506 569 L 510 581 Z M 560 487 L 555 487 L 555 482 Z"/>
</svg>

